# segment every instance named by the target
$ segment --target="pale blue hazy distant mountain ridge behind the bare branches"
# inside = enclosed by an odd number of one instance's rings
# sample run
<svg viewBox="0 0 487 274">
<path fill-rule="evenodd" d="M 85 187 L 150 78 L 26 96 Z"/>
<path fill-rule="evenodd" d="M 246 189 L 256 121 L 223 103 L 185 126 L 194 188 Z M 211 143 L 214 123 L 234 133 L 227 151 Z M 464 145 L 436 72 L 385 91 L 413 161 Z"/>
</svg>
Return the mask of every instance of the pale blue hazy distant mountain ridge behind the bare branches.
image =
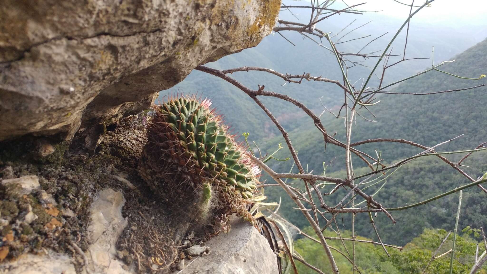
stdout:
<svg viewBox="0 0 487 274">
<path fill-rule="evenodd" d="M 301 12 L 299 18 L 306 18 L 306 10 Z M 391 26 L 397 27 L 402 23 L 401 20 L 392 20 L 387 17 L 367 17 L 351 16 L 342 14 L 340 16 L 333 16 L 327 20 L 320 22 L 319 27 L 326 31 L 334 33 L 339 32 L 345 25 L 348 25 L 352 20 L 357 19 L 351 26 L 357 27 L 361 24 L 374 19 L 371 23 L 362 28 L 357 29 L 351 34 L 347 35 L 343 40 L 355 39 L 371 35 L 367 39 L 359 39 L 352 42 L 338 44 L 337 47 L 345 52 L 358 52 L 367 42 L 373 38 L 384 34 L 391 30 Z M 290 14 L 281 13 L 280 18 L 283 20 L 294 19 Z M 296 19 L 294 19 L 296 20 Z M 444 32 L 432 32 L 431 29 L 441 26 L 422 26 L 420 24 L 411 25 L 411 33 L 408 41 L 407 57 L 430 57 L 431 45 L 435 45 L 435 56 L 437 60 L 445 60 L 452 55 L 460 53 L 473 45 L 478 39 L 473 36 L 467 36 L 464 39 L 451 39 L 452 36 L 460 36 L 457 30 L 452 30 L 449 34 Z M 467 28 L 467 31 L 470 28 Z M 341 35 L 346 32 L 341 33 Z M 283 74 L 302 74 L 304 72 L 311 73 L 313 76 L 322 76 L 330 79 L 341 79 L 339 68 L 336 64 L 335 57 L 324 48 L 319 47 L 315 42 L 303 37 L 295 32 L 283 33 L 285 37 L 291 40 L 296 46 L 293 46 L 280 35 L 270 35 L 262 40 L 262 42 L 250 49 L 246 49 L 241 53 L 226 56 L 216 62 L 208 63 L 207 66 L 218 69 L 229 69 L 241 66 L 260 66 L 267 67 L 279 71 Z M 367 48 L 370 51 L 381 50 L 388 39 L 391 39 L 393 33 L 390 32 L 384 37 L 375 40 Z M 340 36 L 337 36 L 339 38 Z M 396 43 L 398 48 L 402 47 L 404 37 L 400 35 Z M 326 44 L 326 39 L 323 41 Z M 399 50 L 398 50 L 399 51 Z M 401 50 L 402 51 L 402 50 Z M 397 57 L 398 58 L 398 57 Z M 374 59 L 362 59 L 366 65 L 373 65 Z M 393 58 L 391 59 L 393 60 Z M 412 60 L 403 62 L 396 68 L 391 68 L 386 74 L 389 80 L 399 79 L 401 76 L 413 74 L 423 67 L 427 66 L 429 60 Z M 354 82 L 359 77 L 368 75 L 370 68 L 356 66 L 350 69 L 350 74 L 354 76 L 351 80 Z M 356 76 L 356 78 L 355 78 Z M 288 83 L 284 86 L 284 81 L 281 78 L 273 76 L 264 72 L 238 72 L 231 75 L 231 77 L 241 81 L 249 88 L 257 89 L 258 84 L 265 84 L 266 90 L 284 93 L 296 98 L 306 104 L 311 109 L 320 111 L 322 109 L 318 98 L 322 97 L 324 102 L 333 106 L 341 104 L 342 91 L 330 83 L 322 82 L 307 82 L 303 81 L 301 84 Z M 372 83 L 375 79 L 372 80 Z M 252 132 L 252 136 L 258 140 L 267 139 L 279 134 L 275 127 L 265 128 L 265 123 L 269 121 L 268 117 L 255 104 L 253 100 L 248 98 L 242 91 L 225 82 L 220 78 L 207 75 L 200 71 L 193 71 L 183 82 L 168 91 L 162 91 L 160 98 L 171 92 L 176 91 L 184 93 L 202 93 L 204 97 L 211 98 L 213 105 L 222 113 L 225 114 L 228 123 L 239 132 Z M 295 112 L 293 105 L 270 98 L 262 98 L 269 109 L 276 115 L 280 116 L 285 112 Z M 236 103 L 234 103 L 236 102 Z M 330 103 L 328 103 L 330 102 Z M 285 122 L 283 124 L 288 129 L 293 129 L 296 124 L 293 122 Z"/>
</svg>

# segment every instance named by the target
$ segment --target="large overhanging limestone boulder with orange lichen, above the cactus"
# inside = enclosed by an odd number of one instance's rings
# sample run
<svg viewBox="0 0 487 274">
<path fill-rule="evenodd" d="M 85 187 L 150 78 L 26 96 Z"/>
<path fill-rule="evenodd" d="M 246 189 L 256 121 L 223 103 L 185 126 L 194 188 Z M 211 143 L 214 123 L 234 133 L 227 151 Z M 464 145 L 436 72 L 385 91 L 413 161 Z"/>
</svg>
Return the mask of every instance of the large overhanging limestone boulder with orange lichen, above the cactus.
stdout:
<svg viewBox="0 0 487 274">
<path fill-rule="evenodd" d="M 138 113 L 197 65 L 256 46 L 280 4 L 4 0 L 0 140 L 29 133 L 71 139 L 80 127 Z"/>
</svg>

